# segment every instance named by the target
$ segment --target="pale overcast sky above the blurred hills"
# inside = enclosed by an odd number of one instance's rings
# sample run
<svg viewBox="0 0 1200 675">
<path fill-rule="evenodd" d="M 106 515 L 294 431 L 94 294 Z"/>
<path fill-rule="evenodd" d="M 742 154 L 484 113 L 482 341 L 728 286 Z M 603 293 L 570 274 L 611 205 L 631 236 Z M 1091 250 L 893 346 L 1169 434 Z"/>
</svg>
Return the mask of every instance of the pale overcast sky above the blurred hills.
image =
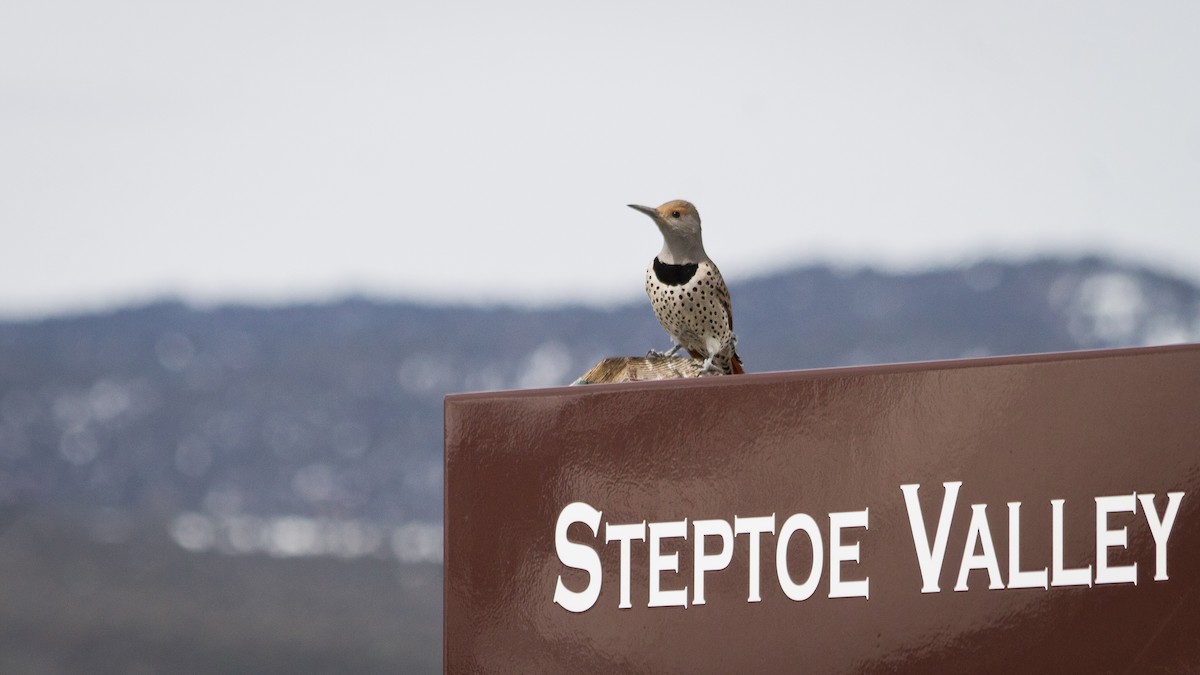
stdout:
<svg viewBox="0 0 1200 675">
<path fill-rule="evenodd" d="M 634 299 L 1102 252 L 1200 280 L 1200 2 L 0 4 L 0 316 Z"/>
</svg>

